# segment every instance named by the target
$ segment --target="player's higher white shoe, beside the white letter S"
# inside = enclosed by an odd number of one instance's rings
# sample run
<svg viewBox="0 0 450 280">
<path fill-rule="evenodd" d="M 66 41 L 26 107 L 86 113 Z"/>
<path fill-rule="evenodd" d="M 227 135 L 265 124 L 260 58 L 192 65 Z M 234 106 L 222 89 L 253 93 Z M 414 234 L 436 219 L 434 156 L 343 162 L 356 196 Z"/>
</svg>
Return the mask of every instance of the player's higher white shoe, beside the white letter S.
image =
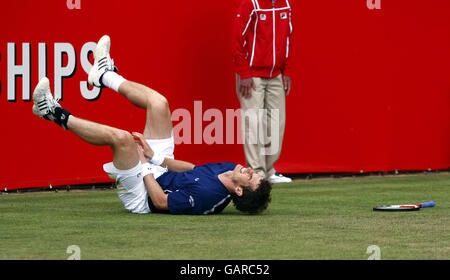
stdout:
<svg viewBox="0 0 450 280">
<path fill-rule="evenodd" d="M 114 60 L 109 55 L 111 48 L 111 38 L 104 35 L 97 43 L 94 50 L 94 65 L 89 71 L 88 82 L 91 86 L 104 87 L 102 83 L 102 76 L 107 71 L 117 72 L 117 67 L 114 66 Z"/>
</svg>

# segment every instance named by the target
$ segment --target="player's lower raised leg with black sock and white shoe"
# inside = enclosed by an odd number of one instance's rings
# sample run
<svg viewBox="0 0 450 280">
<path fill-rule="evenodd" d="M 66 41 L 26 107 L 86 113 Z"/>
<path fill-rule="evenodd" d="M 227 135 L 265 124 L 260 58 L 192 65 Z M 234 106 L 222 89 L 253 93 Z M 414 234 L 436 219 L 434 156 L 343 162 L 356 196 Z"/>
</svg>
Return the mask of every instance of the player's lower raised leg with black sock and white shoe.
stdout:
<svg viewBox="0 0 450 280">
<path fill-rule="evenodd" d="M 33 92 L 33 113 L 51 120 L 64 129 L 72 131 L 87 143 L 110 146 L 114 155 L 114 166 L 127 170 L 136 166 L 139 155 L 133 136 L 124 130 L 83 120 L 63 109 L 50 92 L 47 78 L 41 79 Z"/>
</svg>

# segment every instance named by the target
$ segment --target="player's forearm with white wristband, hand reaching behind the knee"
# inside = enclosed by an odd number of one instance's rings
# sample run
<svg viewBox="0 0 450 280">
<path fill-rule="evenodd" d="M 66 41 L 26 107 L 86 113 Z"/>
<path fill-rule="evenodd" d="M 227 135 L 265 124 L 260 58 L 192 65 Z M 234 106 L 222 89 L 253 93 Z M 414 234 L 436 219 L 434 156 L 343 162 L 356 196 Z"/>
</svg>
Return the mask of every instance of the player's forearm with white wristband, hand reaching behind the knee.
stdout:
<svg viewBox="0 0 450 280">
<path fill-rule="evenodd" d="M 135 137 L 138 146 L 142 148 L 144 156 L 151 159 L 155 164 L 167 167 L 169 170 L 175 172 L 183 172 L 194 169 L 195 165 L 187 161 L 176 160 L 167 157 L 159 158 L 158 155 L 155 155 L 152 148 L 148 145 L 147 141 L 145 141 L 142 134 L 138 132 L 133 132 L 132 134 Z"/>
</svg>

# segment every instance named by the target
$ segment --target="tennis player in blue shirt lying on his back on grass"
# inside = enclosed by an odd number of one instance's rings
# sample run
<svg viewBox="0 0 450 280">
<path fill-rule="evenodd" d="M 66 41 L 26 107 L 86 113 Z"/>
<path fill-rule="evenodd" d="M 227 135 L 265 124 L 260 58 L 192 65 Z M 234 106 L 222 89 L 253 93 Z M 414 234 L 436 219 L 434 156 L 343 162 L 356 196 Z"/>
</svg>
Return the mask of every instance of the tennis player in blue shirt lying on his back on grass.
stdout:
<svg viewBox="0 0 450 280">
<path fill-rule="evenodd" d="M 54 99 L 47 78 L 33 92 L 33 113 L 72 131 L 87 143 L 111 147 L 113 162 L 104 164 L 103 169 L 116 180 L 119 198 L 132 213 L 216 214 L 231 200 L 240 211 L 264 211 L 271 199 L 271 185 L 251 168 L 225 162 L 195 166 L 174 159 L 167 99 L 117 74 L 109 50 L 110 38 L 105 35 L 94 50 L 89 84 L 109 87 L 146 109 L 143 134 L 72 115 Z"/>
</svg>

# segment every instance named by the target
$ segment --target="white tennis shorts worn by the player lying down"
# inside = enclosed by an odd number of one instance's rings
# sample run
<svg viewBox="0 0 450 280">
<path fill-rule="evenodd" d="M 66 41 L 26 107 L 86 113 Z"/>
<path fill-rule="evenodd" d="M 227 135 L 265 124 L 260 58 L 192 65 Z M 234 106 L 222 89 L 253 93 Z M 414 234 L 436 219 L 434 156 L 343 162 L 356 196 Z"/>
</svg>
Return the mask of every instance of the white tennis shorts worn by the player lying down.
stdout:
<svg viewBox="0 0 450 280">
<path fill-rule="evenodd" d="M 174 158 L 175 143 L 173 136 L 167 139 L 147 139 L 146 141 L 155 153 L 159 153 L 167 158 Z M 155 179 L 167 172 L 167 168 L 149 163 L 153 167 L 152 173 Z M 116 180 L 119 199 L 125 209 L 136 214 L 151 212 L 148 206 L 147 189 L 142 178 L 141 162 L 128 170 L 119 170 L 112 162 L 109 162 L 103 165 L 103 170 L 108 173 L 111 179 Z"/>
</svg>

